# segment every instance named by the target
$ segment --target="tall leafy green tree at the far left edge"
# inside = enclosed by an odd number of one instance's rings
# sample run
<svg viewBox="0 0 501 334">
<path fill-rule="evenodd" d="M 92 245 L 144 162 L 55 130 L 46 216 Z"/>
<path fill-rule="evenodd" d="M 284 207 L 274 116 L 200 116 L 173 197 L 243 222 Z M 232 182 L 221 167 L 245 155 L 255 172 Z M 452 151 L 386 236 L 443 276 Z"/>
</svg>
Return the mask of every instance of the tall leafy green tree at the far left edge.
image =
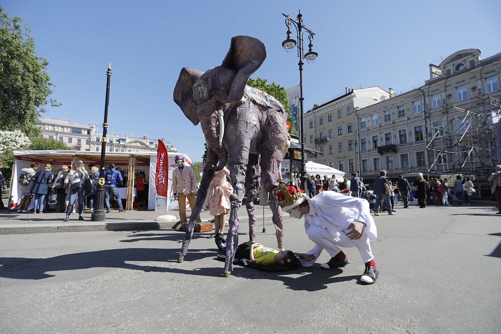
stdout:
<svg viewBox="0 0 501 334">
<path fill-rule="evenodd" d="M 52 94 L 49 62 L 35 51 L 28 24 L 10 18 L 0 7 L 0 130 L 21 130 L 30 137 L 40 136 L 35 127 L 43 106 L 57 101 Z"/>
</svg>

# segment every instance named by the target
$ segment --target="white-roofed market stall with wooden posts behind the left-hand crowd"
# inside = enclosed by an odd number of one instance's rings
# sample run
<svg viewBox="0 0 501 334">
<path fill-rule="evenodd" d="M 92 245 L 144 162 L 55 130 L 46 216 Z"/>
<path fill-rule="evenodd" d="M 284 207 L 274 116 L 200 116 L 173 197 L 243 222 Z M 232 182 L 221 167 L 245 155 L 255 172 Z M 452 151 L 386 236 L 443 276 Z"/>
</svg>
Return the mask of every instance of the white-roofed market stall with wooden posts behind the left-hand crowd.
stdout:
<svg viewBox="0 0 501 334">
<path fill-rule="evenodd" d="M 176 167 L 174 163 L 175 155 L 184 155 L 186 158 L 186 163 L 191 165 L 191 160 L 189 157 L 182 153 L 168 152 L 169 156 L 169 180 L 168 180 L 168 198 L 167 203 L 170 209 L 178 209 L 177 201 L 173 201 L 173 196 L 171 193 L 171 183 L 172 183 L 172 170 Z M 22 168 L 30 167 L 32 162 L 46 164 L 49 163 L 53 166 L 52 171 L 56 172 L 62 165 L 71 165 L 71 162 L 80 159 L 85 165 L 94 164 L 99 166 L 101 161 L 101 152 L 89 152 L 89 151 L 74 151 L 74 150 L 46 150 L 46 151 L 14 151 L 15 163 L 12 168 L 12 178 L 11 178 L 11 191 L 9 196 L 9 207 L 12 207 L 22 197 L 20 194 L 21 186 L 17 182 L 19 175 L 21 174 Z M 124 170 L 126 176 L 134 175 L 138 170 L 144 171 L 146 175 L 149 175 L 149 189 L 148 189 L 148 209 L 154 210 L 156 204 L 156 189 L 155 189 L 155 170 L 156 170 L 156 152 L 106 152 L 106 168 L 110 163 L 115 163 L 117 167 L 121 167 Z M 135 189 L 134 189 L 134 177 L 127 177 L 126 188 L 124 189 L 124 194 L 126 196 L 122 197 L 126 199 L 125 208 L 132 209 L 132 203 L 134 201 Z M 170 205 L 169 205 L 170 204 Z"/>
</svg>

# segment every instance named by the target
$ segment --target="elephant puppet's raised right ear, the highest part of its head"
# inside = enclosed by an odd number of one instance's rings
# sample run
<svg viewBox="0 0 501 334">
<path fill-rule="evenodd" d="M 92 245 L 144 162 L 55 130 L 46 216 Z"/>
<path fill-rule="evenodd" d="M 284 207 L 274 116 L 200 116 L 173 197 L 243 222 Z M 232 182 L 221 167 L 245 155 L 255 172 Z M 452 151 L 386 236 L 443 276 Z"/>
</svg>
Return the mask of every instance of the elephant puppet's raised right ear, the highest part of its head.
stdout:
<svg viewBox="0 0 501 334">
<path fill-rule="evenodd" d="M 235 36 L 231 39 L 228 54 L 221 64 L 224 68 L 236 70 L 228 100 L 239 101 L 242 98 L 247 80 L 259 69 L 265 59 L 266 46 L 257 38 Z"/>
</svg>

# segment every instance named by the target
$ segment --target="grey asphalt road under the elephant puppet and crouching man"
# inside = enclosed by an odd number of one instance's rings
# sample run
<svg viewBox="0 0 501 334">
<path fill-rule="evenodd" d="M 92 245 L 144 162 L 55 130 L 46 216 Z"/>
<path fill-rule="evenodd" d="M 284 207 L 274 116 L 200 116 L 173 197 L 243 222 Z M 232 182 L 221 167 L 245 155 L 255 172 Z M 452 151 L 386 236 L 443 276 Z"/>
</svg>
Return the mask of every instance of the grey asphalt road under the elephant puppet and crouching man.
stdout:
<svg viewBox="0 0 501 334">
<path fill-rule="evenodd" d="M 399 209 L 375 217 L 377 283 L 350 263 L 222 276 L 199 234 L 177 263 L 174 230 L 0 235 L 0 332 L 498 333 L 501 217 L 493 207 Z M 240 227 L 240 242 L 248 228 Z M 273 227 L 257 241 L 276 246 Z M 306 251 L 302 221 L 286 248 Z"/>
</svg>

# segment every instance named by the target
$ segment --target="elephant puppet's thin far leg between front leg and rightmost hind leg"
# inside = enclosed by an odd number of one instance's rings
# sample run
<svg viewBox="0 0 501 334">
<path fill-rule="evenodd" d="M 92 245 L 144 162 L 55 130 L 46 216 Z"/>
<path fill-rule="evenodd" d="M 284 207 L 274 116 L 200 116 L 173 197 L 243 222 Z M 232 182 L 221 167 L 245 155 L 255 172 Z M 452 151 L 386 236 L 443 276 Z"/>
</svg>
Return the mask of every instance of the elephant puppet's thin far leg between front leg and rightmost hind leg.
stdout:
<svg viewBox="0 0 501 334">
<path fill-rule="evenodd" d="M 261 167 L 259 165 L 259 155 L 249 154 L 247 171 L 245 172 L 245 208 L 249 217 L 249 241 L 256 239 L 256 215 L 254 214 L 254 200 L 260 189 Z"/>
</svg>

